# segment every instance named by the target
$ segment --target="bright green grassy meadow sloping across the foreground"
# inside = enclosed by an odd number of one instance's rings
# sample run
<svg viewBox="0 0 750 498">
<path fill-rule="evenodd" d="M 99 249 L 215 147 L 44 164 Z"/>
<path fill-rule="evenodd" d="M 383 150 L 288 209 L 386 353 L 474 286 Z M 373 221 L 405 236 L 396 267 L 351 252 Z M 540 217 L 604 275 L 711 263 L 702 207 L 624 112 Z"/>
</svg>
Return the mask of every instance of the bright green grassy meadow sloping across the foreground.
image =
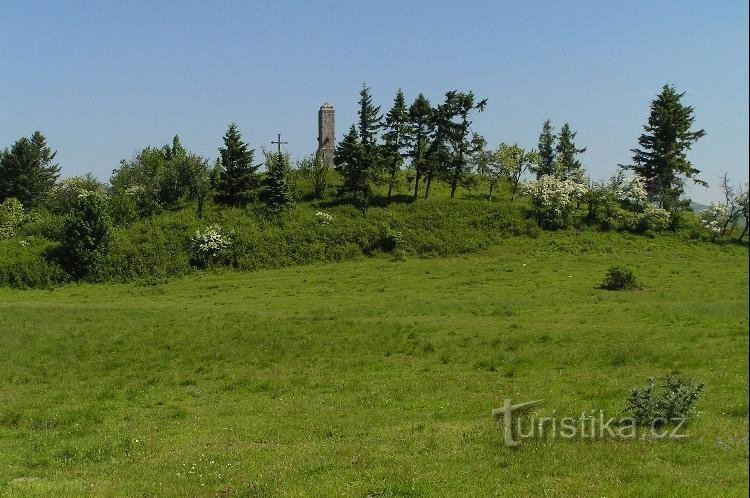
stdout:
<svg viewBox="0 0 750 498">
<path fill-rule="evenodd" d="M 0 289 L 0 494 L 746 496 L 747 257 L 544 233 L 449 259 Z M 643 290 L 599 290 L 614 264 Z M 507 397 L 621 416 L 673 370 L 706 383 L 684 440 L 513 449 L 490 416 Z"/>
</svg>

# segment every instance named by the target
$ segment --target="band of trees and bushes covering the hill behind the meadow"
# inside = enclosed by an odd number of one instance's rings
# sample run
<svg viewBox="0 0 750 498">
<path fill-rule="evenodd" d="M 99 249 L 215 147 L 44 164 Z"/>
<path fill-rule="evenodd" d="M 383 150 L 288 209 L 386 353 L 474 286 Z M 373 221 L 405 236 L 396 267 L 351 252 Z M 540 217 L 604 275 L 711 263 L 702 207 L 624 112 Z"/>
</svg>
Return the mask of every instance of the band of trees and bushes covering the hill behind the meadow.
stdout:
<svg viewBox="0 0 750 498">
<path fill-rule="evenodd" d="M 725 174 L 724 203 L 700 217 L 681 198 L 684 180 L 698 173 L 686 152 L 704 134 L 691 131 L 693 110 L 681 98 L 663 88 L 634 165 L 606 182 L 586 177 L 586 148 L 568 123 L 556 133 L 546 121 L 539 150 L 506 143 L 490 149 L 471 127 L 472 115 L 487 106 L 472 92 L 446 92 L 433 106 L 422 94 L 407 105 L 399 91 L 383 116 L 363 85 L 357 123 L 338 144 L 335 168 L 316 155 L 295 168 L 279 149 L 264 151 L 261 171 L 232 123 L 213 168 L 175 136 L 123 160 L 111 185 L 91 175 L 58 182 L 55 152 L 36 132 L 0 153 L 0 245 L 7 255 L 0 285 L 166 278 L 194 268 L 268 268 L 377 251 L 446 256 L 540 229 L 671 230 L 744 241 L 747 188 Z M 670 115 L 679 126 L 660 132 Z M 628 168 L 637 175 L 626 176 Z M 528 173 L 536 178 L 524 179 Z M 321 211 L 325 223 L 316 216 Z M 221 251 L 197 249 L 196 233 L 210 231 L 225 235 Z M 397 244 L 395 233 L 402 234 Z M 30 264 L 34 258 L 43 261 Z"/>
</svg>

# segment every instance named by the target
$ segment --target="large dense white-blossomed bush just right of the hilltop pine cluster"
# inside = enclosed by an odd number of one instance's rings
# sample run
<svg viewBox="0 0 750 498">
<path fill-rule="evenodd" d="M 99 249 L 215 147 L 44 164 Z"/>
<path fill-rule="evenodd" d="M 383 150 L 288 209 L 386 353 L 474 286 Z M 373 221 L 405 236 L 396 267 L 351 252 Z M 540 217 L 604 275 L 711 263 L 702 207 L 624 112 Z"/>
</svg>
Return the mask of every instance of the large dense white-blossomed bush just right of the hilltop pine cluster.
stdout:
<svg viewBox="0 0 750 498">
<path fill-rule="evenodd" d="M 536 181 L 525 182 L 522 192 L 531 203 L 540 225 L 564 226 L 570 214 L 588 191 L 588 187 L 572 179 L 543 175 Z"/>
</svg>

